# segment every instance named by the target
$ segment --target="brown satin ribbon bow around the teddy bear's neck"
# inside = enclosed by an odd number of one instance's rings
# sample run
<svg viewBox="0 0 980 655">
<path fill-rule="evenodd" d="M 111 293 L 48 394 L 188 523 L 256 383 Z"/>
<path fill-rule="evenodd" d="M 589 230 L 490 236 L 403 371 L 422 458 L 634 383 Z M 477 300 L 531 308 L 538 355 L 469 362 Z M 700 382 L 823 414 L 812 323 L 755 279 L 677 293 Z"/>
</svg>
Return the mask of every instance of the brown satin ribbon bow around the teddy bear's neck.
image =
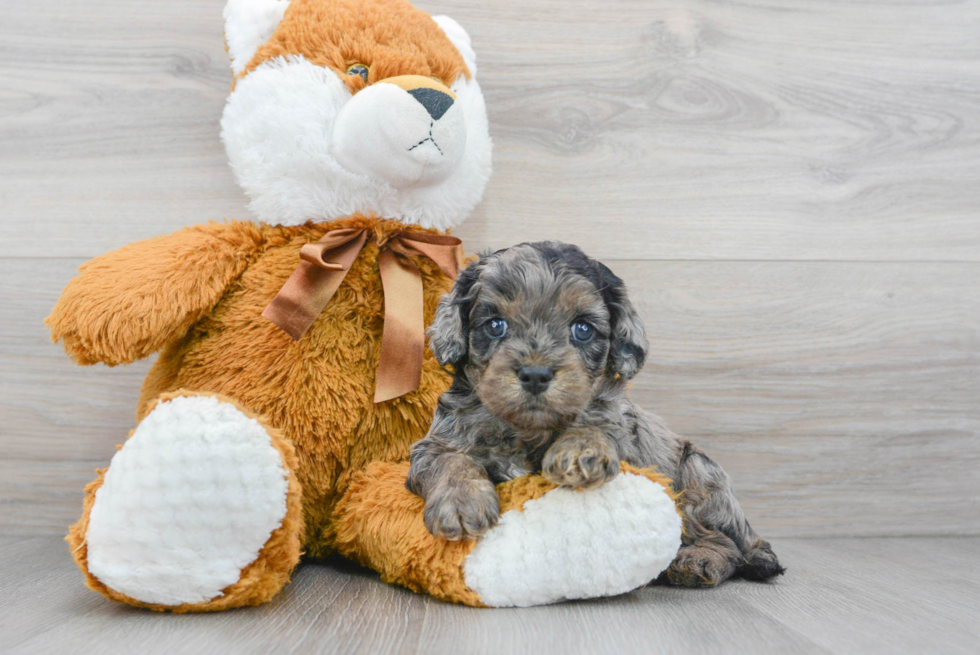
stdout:
<svg viewBox="0 0 980 655">
<path fill-rule="evenodd" d="M 262 316 L 297 341 L 306 334 L 340 288 L 358 253 L 372 237 L 368 229 L 331 230 L 299 251 L 303 260 Z M 397 398 L 418 388 L 425 351 L 422 276 L 417 257 L 428 257 L 456 279 L 463 263 L 461 241 L 425 232 L 396 232 L 378 242 L 378 268 L 385 299 L 384 332 L 374 387 L 374 402 Z"/>
</svg>

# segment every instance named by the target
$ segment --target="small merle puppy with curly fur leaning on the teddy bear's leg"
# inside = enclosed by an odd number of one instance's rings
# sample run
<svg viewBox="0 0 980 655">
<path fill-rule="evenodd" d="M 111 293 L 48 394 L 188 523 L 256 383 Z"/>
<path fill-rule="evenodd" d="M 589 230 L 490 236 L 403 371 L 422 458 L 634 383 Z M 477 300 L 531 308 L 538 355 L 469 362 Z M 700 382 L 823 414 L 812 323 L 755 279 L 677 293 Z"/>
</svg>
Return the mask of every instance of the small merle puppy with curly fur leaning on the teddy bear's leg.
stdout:
<svg viewBox="0 0 980 655">
<path fill-rule="evenodd" d="M 622 280 L 578 247 L 525 243 L 463 271 L 429 328 L 452 364 L 452 388 L 412 448 L 407 486 L 425 525 L 473 539 L 500 513 L 494 484 L 540 471 L 595 487 L 620 461 L 656 466 L 682 493 L 683 547 L 666 572 L 684 586 L 783 572 L 749 526 L 728 476 L 626 394 L 646 356 L 643 324 Z"/>
</svg>

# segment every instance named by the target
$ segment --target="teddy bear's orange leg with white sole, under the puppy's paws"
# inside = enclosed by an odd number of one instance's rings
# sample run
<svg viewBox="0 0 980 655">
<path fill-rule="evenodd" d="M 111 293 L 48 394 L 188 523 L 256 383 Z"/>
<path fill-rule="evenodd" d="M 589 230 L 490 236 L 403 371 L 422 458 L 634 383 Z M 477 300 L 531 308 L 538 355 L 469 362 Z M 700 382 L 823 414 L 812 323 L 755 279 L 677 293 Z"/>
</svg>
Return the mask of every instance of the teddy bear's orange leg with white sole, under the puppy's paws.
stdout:
<svg viewBox="0 0 980 655">
<path fill-rule="evenodd" d="M 656 578 L 681 544 L 670 481 L 650 470 L 624 465 L 588 491 L 539 475 L 505 482 L 500 521 L 476 541 L 429 534 L 407 475 L 407 463 L 359 472 L 337 507 L 335 545 L 386 581 L 443 600 L 509 607 L 621 594 Z"/>
</svg>

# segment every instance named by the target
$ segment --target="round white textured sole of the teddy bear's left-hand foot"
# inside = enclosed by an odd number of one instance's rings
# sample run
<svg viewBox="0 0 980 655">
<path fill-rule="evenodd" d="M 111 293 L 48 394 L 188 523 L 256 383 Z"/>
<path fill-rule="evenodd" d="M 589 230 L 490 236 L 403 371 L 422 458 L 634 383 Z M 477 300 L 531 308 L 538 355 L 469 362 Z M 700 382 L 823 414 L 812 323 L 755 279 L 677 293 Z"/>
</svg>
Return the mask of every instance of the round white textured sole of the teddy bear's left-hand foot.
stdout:
<svg viewBox="0 0 980 655">
<path fill-rule="evenodd" d="M 146 603 L 216 598 L 286 515 L 287 477 L 255 419 L 209 396 L 161 403 L 112 458 L 89 517 L 89 571 Z"/>
</svg>

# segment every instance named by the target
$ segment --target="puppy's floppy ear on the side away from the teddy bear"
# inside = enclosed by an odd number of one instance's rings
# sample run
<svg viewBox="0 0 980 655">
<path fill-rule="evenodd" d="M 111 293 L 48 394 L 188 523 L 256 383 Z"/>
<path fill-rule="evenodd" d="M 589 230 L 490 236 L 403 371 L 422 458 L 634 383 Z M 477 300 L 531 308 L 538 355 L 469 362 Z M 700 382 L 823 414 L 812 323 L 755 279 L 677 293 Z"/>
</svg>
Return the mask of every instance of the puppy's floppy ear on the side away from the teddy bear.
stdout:
<svg viewBox="0 0 980 655">
<path fill-rule="evenodd" d="M 612 335 L 609 344 L 609 367 L 629 380 L 643 367 L 647 357 L 646 330 L 643 321 L 626 294 L 626 285 L 602 262 L 596 262 L 602 297 L 609 309 Z"/>
</svg>

